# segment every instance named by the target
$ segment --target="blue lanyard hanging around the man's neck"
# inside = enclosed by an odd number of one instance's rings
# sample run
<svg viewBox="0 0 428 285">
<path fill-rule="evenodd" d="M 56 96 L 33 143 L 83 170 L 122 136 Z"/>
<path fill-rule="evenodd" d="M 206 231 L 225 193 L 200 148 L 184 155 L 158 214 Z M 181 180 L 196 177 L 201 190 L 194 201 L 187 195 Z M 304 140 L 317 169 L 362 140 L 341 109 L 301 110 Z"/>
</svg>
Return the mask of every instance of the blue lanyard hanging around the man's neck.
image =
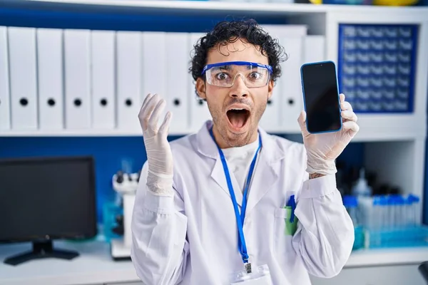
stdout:
<svg viewBox="0 0 428 285">
<path fill-rule="evenodd" d="M 214 134 L 213 134 L 213 128 L 210 128 L 210 135 L 215 142 L 215 138 L 214 138 Z M 215 142 L 215 145 L 217 145 L 217 142 Z M 230 180 L 228 164 L 226 162 L 225 155 L 223 154 L 223 151 L 217 145 L 218 152 L 220 154 L 220 159 L 221 159 L 221 162 L 223 164 L 223 170 L 225 171 L 226 181 L 228 182 L 228 188 L 229 188 L 229 192 L 230 192 L 230 197 L 232 198 L 233 208 L 235 209 L 235 217 L 236 217 L 236 222 L 238 224 L 238 234 L 239 234 L 238 250 L 239 250 L 241 256 L 243 257 L 243 261 L 245 264 L 248 263 L 248 253 L 247 253 L 247 245 L 245 244 L 245 238 L 244 238 L 244 232 L 243 232 L 243 223 L 244 223 L 244 219 L 245 219 L 245 209 L 247 209 L 248 188 L 250 187 L 251 177 L 253 176 L 254 167 L 255 167 L 255 161 L 257 160 L 257 155 L 258 155 L 258 152 L 260 150 L 260 147 L 262 147 L 262 138 L 259 135 L 259 146 L 255 152 L 254 157 L 253 157 L 253 161 L 251 162 L 251 165 L 250 165 L 250 171 L 248 172 L 248 177 L 247 177 L 247 180 L 245 181 L 245 188 L 244 188 L 244 193 L 243 193 L 243 205 L 242 205 L 241 212 L 239 213 L 238 203 L 236 202 L 236 197 L 235 197 L 235 192 L 233 192 L 232 180 Z M 248 265 L 250 265 L 250 264 L 248 264 Z M 246 268 L 247 268 L 248 273 L 250 273 L 251 266 L 246 266 Z"/>
</svg>

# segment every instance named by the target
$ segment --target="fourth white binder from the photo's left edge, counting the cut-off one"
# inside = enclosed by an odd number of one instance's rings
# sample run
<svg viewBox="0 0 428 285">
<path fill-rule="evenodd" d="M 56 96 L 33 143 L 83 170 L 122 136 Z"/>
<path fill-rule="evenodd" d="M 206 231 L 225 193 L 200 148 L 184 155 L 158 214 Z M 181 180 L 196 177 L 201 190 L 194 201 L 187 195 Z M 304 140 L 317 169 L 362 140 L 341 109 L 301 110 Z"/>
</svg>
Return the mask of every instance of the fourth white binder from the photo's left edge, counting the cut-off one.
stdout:
<svg viewBox="0 0 428 285">
<path fill-rule="evenodd" d="M 66 128 L 91 128 L 91 31 L 64 30 Z"/>
</svg>

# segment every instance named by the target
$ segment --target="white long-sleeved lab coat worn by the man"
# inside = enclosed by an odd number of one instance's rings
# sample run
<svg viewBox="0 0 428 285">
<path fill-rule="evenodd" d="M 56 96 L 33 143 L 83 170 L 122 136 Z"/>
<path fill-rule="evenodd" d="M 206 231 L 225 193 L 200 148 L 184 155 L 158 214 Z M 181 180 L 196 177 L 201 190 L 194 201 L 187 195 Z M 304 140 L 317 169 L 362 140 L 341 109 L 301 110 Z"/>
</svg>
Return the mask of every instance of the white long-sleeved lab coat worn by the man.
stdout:
<svg viewBox="0 0 428 285">
<path fill-rule="evenodd" d="M 244 269 L 233 203 L 208 129 L 211 124 L 170 142 L 174 197 L 148 192 L 148 165 L 143 166 L 131 223 L 131 257 L 146 285 L 230 284 L 231 275 Z M 354 227 L 335 175 L 308 180 L 305 147 L 259 130 L 263 148 L 243 224 L 250 262 L 267 264 L 275 285 L 307 285 L 308 274 L 335 276 L 354 242 Z M 233 173 L 230 176 L 241 205 L 242 190 Z M 293 236 L 285 234 L 283 208 L 291 195 L 297 200 L 298 218 Z"/>
</svg>

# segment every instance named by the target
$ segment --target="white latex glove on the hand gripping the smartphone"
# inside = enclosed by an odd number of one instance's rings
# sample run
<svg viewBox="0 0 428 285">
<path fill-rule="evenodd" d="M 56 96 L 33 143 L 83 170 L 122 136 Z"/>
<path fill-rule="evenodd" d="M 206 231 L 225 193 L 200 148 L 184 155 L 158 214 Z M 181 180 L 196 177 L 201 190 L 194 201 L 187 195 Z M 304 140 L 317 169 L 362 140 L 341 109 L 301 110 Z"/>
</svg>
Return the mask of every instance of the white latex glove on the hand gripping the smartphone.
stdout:
<svg viewBox="0 0 428 285">
<path fill-rule="evenodd" d="M 345 101 L 345 95 L 340 94 L 340 108 L 342 110 L 342 130 L 335 133 L 310 134 L 306 128 L 306 113 L 302 111 L 298 118 L 302 131 L 303 143 L 307 152 L 307 169 L 309 174 L 322 175 L 335 174 L 337 172 L 335 160 L 345 150 L 355 134 L 360 130 L 357 125 L 357 115 L 352 110 L 349 102 Z"/>
</svg>

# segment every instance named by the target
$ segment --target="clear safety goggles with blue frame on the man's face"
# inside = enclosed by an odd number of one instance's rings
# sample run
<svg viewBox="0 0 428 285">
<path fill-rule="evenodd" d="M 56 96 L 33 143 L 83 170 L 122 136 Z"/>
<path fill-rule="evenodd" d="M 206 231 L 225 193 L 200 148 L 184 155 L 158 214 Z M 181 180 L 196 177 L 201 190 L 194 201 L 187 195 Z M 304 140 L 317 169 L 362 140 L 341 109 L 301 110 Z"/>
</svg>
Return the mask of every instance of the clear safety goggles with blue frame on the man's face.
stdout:
<svg viewBox="0 0 428 285">
<path fill-rule="evenodd" d="M 203 68 L 208 84 L 219 87 L 232 87 L 240 76 L 248 88 L 266 86 L 272 74 L 272 66 L 248 61 L 229 61 L 208 64 Z"/>
</svg>

